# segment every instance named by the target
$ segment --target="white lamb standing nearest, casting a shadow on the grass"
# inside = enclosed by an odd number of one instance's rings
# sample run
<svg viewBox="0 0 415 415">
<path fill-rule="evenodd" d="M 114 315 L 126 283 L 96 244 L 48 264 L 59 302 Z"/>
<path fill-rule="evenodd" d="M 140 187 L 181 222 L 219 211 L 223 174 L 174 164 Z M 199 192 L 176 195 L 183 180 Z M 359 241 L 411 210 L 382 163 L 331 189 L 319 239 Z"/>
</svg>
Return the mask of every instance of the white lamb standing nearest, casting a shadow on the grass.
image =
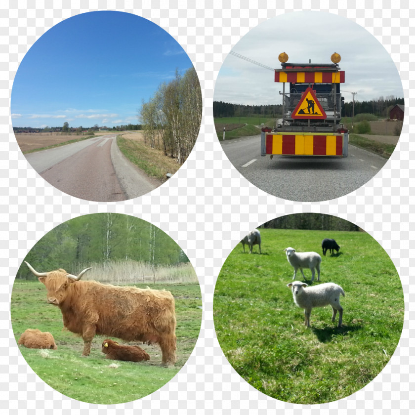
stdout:
<svg viewBox="0 0 415 415">
<path fill-rule="evenodd" d="M 325 283 L 318 286 L 308 287 L 301 281 L 294 281 L 287 284 L 291 287 L 292 297 L 298 307 L 304 309 L 304 325 L 310 327 L 311 309 L 314 307 L 324 307 L 331 305 L 333 309 L 332 322 L 334 322 L 338 311 L 338 326 L 341 327 L 343 319 L 343 308 L 340 305 L 340 294 L 344 297 L 343 289 L 334 283 Z"/>
</svg>

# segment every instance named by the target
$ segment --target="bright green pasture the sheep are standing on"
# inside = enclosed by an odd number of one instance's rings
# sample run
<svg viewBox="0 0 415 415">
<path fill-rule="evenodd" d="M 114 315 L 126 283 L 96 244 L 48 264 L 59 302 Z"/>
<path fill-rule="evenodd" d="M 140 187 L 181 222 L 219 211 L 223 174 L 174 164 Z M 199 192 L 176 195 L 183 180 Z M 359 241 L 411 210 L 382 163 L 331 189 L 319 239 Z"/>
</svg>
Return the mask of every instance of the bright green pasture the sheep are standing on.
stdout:
<svg viewBox="0 0 415 415">
<path fill-rule="evenodd" d="M 238 244 L 215 286 L 214 325 L 229 363 L 250 385 L 285 402 L 321 404 L 363 388 L 388 363 L 403 328 L 403 290 L 391 259 L 364 232 L 260 232 L 262 254 L 258 246 L 244 253 Z M 338 254 L 322 255 L 324 238 L 336 240 Z M 341 328 L 332 323 L 330 306 L 314 308 L 311 328 L 303 325 L 303 310 L 287 287 L 289 246 L 319 252 L 320 283 L 344 289 Z M 310 270 L 304 274 L 310 284 Z M 296 279 L 303 280 L 299 271 Z"/>
</svg>

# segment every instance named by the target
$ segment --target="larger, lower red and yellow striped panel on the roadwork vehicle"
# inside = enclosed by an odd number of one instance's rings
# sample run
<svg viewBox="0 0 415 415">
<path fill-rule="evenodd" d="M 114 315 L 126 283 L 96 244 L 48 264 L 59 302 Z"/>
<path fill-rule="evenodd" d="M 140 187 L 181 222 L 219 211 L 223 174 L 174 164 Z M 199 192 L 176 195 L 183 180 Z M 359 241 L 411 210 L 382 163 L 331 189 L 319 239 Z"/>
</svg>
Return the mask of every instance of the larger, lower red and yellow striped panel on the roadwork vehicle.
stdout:
<svg viewBox="0 0 415 415">
<path fill-rule="evenodd" d="M 266 154 L 284 156 L 342 156 L 342 134 L 266 134 Z"/>
</svg>

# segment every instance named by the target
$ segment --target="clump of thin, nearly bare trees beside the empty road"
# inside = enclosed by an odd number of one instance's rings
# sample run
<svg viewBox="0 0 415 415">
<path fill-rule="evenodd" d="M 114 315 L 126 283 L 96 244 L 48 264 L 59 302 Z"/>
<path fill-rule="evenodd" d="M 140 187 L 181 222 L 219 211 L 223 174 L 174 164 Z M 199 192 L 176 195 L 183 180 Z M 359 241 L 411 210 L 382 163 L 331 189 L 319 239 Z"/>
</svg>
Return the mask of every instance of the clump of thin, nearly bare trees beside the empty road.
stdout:
<svg viewBox="0 0 415 415">
<path fill-rule="evenodd" d="M 202 106 L 195 69 L 188 69 L 183 76 L 176 71 L 172 81 L 162 83 L 148 102 L 143 100 L 139 119 L 144 143 L 183 164 L 198 138 Z"/>
</svg>

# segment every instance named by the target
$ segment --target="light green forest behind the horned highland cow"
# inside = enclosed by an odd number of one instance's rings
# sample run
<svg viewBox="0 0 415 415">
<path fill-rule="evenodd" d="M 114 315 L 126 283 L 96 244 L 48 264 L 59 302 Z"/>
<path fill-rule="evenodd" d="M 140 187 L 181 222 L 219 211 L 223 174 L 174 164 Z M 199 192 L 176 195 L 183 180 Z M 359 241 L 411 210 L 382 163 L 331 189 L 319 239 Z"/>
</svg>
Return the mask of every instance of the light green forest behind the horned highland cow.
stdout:
<svg viewBox="0 0 415 415">
<path fill-rule="evenodd" d="M 39 272 L 63 268 L 74 273 L 80 264 L 122 260 L 152 267 L 189 262 L 160 228 L 117 213 L 94 213 L 64 222 L 43 236 L 25 258 Z M 20 266 L 17 278 L 33 278 L 26 264 Z"/>
</svg>

